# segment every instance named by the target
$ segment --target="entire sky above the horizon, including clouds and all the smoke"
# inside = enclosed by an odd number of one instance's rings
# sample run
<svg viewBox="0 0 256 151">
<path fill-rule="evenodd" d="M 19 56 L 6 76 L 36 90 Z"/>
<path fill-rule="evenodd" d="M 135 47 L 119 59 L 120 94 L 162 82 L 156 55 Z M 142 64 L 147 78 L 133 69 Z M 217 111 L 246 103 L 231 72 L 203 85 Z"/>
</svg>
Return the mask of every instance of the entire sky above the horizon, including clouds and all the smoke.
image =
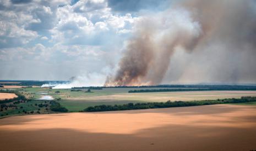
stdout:
<svg viewBox="0 0 256 151">
<path fill-rule="evenodd" d="M 256 83 L 256 2 L 0 1 L 0 79 Z"/>
</svg>

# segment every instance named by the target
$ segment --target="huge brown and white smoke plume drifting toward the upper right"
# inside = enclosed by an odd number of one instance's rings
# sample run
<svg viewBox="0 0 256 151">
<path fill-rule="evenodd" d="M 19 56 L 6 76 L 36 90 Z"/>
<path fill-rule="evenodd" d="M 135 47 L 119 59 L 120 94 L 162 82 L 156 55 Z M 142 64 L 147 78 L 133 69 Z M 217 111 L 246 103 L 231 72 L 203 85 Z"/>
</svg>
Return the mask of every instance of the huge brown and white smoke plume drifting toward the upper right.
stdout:
<svg viewBox="0 0 256 151">
<path fill-rule="evenodd" d="M 238 73 L 241 78 L 245 76 L 243 72 L 255 75 L 256 69 L 251 66 L 256 61 L 246 62 L 247 55 L 255 56 L 255 9 L 255 1 L 252 0 L 197 0 L 182 1 L 165 12 L 144 16 L 138 22 L 133 38 L 129 40 L 118 71 L 107 78 L 105 85 L 160 84 L 168 71 L 173 53 L 178 49 L 198 54 L 192 60 L 209 57 L 205 52 L 213 47 L 221 50 L 219 54 L 224 56 L 221 60 L 223 65 L 214 61 L 204 63 L 219 69 L 219 72 L 222 69 L 227 71 L 227 75 L 215 73 L 215 77 L 224 82 L 236 81 L 239 79 Z M 242 51 L 246 53 L 242 54 Z M 239 58 L 238 54 L 245 55 L 245 59 L 236 66 L 233 56 Z M 183 72 L 193 68 L 184 68 Z M 205 68 L 202 70 L 207 71 Z"/>
</svg>

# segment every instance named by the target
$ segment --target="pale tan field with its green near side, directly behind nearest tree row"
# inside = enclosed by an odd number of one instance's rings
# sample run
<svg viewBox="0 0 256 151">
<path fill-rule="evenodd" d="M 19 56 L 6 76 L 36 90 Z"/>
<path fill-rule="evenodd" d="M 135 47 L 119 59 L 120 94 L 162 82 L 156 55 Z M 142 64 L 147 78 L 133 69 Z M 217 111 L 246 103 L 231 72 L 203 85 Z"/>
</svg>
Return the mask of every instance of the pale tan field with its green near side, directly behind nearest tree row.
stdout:
<svg viewBox="0 0 256 151">
<path fill-rule="evenodd" d="M 68 98 L 58 101 L 69 111 L 81 111 L 89 106 L 100 104 L 114 105 L 138 102 L 166 102 L 171 101 L 194 101 L 215 100 L 221 98 L 240 98 L 241 96 L 256 96 L 256 91 L 189 91 L 189 92 L 152 92 L 152 93 L 119 93 L 103 96 L 87 96 Z M 246 104 L 246 103 L 244 103 Z"/>
</svg>

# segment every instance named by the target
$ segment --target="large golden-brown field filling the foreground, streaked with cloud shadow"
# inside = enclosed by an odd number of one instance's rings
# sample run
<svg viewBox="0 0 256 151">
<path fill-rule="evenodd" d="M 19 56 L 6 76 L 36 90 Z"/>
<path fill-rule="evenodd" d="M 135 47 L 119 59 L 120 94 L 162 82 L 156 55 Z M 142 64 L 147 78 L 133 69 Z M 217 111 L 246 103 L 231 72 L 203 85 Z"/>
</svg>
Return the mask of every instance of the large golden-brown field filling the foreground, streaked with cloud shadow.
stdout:
<svg viewBox="0 0 256 151">
<path fill-rule="evenodd" d="M 3 150 L 252 150 L 256 107 L 213 106 L 0 119 Z"/>
</svg>

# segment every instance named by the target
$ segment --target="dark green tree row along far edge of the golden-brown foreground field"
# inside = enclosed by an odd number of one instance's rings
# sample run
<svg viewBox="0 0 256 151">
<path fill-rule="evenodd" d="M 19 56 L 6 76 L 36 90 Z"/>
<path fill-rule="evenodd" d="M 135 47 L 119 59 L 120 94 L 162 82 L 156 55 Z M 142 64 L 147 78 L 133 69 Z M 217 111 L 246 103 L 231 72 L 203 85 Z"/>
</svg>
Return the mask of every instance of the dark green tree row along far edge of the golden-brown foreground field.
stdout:
<svg viewBox="0 0 256 151">
<path fill-rule="evenodd" d="M 189 107 L 189 106 L 204 106 L 211 104 L 224 104 L 224 103 L 243 103 L 255 102 L 256 97 L 241 97 L 241 98 L 225 98 L 217 100 L 205 101 L 167 101 L 167 102 L 149 102 L 149 103 L 128 103 L 123 105 L 100 105 L 88 107 L 81 112 L 102 112 L 102 111 L 123 111 L 131 109 L 150 109 L 150 108 L 170 108 L 170 107 Z"/>
</svg>

